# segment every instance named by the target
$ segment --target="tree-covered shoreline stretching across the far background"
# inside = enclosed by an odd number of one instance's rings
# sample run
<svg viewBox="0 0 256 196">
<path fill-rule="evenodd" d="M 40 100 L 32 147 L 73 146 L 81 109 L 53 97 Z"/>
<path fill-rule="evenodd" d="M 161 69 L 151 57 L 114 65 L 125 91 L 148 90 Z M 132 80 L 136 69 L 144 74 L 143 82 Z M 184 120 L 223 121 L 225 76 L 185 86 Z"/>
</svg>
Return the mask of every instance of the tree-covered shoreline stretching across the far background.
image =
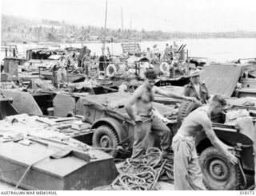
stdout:
<svg viewBox="0 0 256 196">
<path fill-rule="evenodd" d="M 256 32 L 242 30 L 234 32 L 219 33 L 189 33 L 189 32 L 162 32 L 141 31 L 124 29 L 125 39 L 136 39 L 141 41 L 163 41 L 174 38 L 255 38 Z M 14 16 L 2 15 L 2 43 L 23 41 L 56 41 L 56 42 L 78 42 L 88 41 L 90 36 L 98 36 L 102 41 L 104 36 L 103 27 L 70 25 L 66 22 L 50 20 L 30 20 Z M 106 40 L 114 38 L 115 41 L 122 40 L 121 29 L 106 29 Z"/>
</svg>

